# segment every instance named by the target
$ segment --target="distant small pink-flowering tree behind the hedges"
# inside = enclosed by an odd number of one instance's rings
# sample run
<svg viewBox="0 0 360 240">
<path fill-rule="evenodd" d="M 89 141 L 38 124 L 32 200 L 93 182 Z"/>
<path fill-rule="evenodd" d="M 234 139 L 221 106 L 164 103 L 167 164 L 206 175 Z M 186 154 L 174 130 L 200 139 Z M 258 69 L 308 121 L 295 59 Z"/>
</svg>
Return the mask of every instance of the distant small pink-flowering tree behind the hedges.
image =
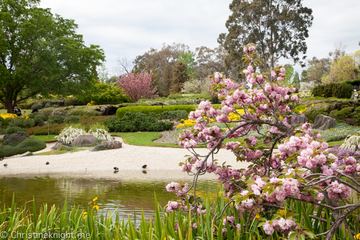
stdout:
<svg viewBox="0 0 360 240">
<path fill-rule="evenodd" d="M 117 85 L 130 96 L 132 102 L 137 102 L 141 98 L 157 98 L 159 97 L 157 86 L 152 86 L 153 73 L 148 72 L 131 72 L 125 73 L 118 78 Z"/>
</svg>

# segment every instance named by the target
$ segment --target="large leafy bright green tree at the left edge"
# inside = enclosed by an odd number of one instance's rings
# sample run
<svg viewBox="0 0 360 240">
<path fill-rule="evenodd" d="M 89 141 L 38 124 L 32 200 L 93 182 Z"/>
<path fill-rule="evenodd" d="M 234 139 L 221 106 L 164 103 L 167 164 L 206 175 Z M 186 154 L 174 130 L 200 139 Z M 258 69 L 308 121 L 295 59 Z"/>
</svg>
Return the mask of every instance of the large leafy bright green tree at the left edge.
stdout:
<svg viewBox="0 0 360 240">
<path fill-rule="evenodd" d="M 99 46 L 86 47 L 74 20 L 39 8 L 39 0 L 0 2 L 0 102 L 41 94 L 70 95 L 92 85 L 104 60 Z"/>
</svg>

